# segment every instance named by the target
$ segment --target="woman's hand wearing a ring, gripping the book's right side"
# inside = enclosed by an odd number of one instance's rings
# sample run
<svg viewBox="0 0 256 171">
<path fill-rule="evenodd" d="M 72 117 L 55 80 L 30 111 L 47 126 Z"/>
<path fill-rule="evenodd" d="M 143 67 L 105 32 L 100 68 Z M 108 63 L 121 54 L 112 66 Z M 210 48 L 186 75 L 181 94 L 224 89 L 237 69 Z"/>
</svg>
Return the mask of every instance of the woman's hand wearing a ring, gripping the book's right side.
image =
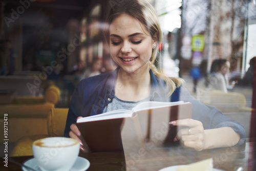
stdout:
<svg viewBox="0 0 256 171">
<path fill-rule="evenodd" d="M 178 131 L 174 141 L 180 139 L 185 146 L 195 148 L 197 151 L 205 149 L 206 136 L 202 122 L 194 119 L 181 119 L 171 121 L 169 124 L 187 126 Z"/>
</svg>

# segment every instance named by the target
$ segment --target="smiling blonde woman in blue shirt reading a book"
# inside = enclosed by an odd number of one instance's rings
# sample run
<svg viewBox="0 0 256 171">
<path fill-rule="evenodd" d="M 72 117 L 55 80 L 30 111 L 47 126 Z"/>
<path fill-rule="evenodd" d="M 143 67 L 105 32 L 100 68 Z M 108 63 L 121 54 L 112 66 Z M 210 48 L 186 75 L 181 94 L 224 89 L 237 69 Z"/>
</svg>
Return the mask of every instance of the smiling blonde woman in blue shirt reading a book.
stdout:
<svg viewBox="0 0 256 171">
<path fill-rule="evenodd" d="M 178 132 L 185 146 L 198 151 L 242 144 L 243 126 L 191 97 L 183 80 L 167 78 L 154 66 L 162 32 L 154 8 L 144 1 L 123 1 L 111 10 L 105 32 L 115 71 L 82 80 L 76 87 L 68 113 L 65 136 L 78 139 L 76 119 L 115 109 L 132 109 L 141 101 L 190 101 L 193 119 L 176 120 L 188 126 Z M 84 146 L 81 144 L 81 149 Z"/>
</svg>

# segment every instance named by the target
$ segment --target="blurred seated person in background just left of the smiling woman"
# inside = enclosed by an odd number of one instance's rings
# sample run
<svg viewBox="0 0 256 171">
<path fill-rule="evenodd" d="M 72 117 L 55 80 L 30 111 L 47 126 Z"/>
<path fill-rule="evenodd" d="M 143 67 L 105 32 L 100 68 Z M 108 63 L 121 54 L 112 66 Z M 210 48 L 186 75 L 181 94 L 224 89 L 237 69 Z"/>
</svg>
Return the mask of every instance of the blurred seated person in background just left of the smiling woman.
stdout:
<svg viewBox="0 0 256 171">
<path fill-rule="evenodd" d="M 80 80 L 101 74 L 102 67 L 103 67 L 102 58 L 99 58 L 99 57 L 94 58 L 89 68 L 84 70 L 84 72 L 82 73 Z"/>
</svg>

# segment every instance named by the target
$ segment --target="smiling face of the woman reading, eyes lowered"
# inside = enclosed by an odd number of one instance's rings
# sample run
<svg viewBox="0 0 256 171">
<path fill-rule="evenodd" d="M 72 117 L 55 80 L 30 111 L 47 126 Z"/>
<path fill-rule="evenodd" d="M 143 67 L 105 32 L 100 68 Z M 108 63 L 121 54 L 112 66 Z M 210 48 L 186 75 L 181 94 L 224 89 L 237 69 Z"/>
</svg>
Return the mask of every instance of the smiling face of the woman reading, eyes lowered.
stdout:
<svg viewBox="0 0 256 171">
<path fill-rule="evenodd" d="M 126 73 L 148 71 L 153 45 L 150 33 L 130 15 L 122 14 L 110 25 L 110 54 Z"/>
</svg>

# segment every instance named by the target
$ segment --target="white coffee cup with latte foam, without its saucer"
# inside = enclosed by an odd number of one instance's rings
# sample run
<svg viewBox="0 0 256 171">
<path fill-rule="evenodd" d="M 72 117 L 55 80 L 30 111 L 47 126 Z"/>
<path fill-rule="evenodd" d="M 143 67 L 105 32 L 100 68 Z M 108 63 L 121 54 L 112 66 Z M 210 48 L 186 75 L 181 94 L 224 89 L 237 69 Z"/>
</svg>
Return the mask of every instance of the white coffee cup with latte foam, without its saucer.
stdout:
<svg viewBox="0 0 256 171">
<path fill-rule="evenodd" d="M 50 137 L 33 142 L 33 155 L 42 171 L 70 170 L 79 154 L 80 143 L 72 138 Z"/>
</svg>

